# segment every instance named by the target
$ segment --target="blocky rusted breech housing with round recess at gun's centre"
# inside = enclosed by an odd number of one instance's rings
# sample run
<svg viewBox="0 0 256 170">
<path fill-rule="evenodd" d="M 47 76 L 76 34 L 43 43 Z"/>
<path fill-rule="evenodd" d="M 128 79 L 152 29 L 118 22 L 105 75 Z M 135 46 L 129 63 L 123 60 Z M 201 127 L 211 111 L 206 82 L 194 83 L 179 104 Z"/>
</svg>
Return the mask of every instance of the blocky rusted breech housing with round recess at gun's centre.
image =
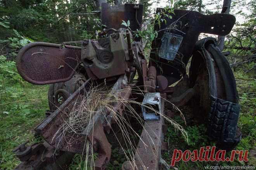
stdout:
<svg viewBox="0 0 256 170">
<path fill-rule="evenodd" d="M 104 39 L 109 41 L 106 47 L 102 47 L 98 39 L 84 41 L 82 45 L 81 60 L 93 80 L 123 75 L 128 68 L 128 47 L 123 34 L 111 34 Z"/>
</svg>

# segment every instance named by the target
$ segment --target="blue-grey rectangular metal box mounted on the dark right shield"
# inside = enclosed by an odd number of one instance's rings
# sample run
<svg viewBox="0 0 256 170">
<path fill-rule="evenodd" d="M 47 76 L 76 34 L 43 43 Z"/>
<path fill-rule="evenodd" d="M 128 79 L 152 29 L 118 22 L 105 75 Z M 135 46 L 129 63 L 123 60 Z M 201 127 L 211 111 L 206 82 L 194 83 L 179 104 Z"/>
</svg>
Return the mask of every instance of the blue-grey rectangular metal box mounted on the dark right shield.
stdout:
<svg viewBox="0 0 256 170">
<path fill-rule="evenodd" d="M 183 37 L 170 32 L 164 32 L 162 37 L 162 43 L 159 50 L 159 57 L 174 60 L 175 56 L 180 48 Z"/>
</svg>

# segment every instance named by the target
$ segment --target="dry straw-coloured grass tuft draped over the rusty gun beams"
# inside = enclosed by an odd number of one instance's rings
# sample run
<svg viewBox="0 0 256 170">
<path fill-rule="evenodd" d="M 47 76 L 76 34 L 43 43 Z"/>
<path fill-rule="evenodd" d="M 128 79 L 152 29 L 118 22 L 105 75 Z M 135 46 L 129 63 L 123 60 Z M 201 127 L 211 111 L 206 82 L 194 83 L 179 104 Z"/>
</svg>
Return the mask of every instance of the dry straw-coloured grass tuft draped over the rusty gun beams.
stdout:
<svg viewBox="0 0 256 170">
<path fill-rule="evenodd" d="M 137 111 L 134 109 L 134 105 L 142 106 L 142 103 L 136 102 L 133 99 L 126 99 L 123 97 L 122 92 L 123 90 L 127 90 L 125 88 L 121 90 L 116 90 L 114 93 L 110 92 L 111 88 L 107 88 L 105 85 L 96 85 L 92 86 L 90 90 L 88 90 L 85 95 L 83 96 L 81 101 L 76 101 L 74 104 L 72 110 L 69 111 L 67 114 L 67 118 L 63 119 L 62 125 L 59 127 L 57 133 L 55 134 L 54 138 L 60 138 L 60 141 L 66 142 L 66 143 L 72 143 L 76 140 L 76 134 L 81 134 L 85 129 L 86 126 L 89 124 L 90 121 L 92 121 L 92 118 L 94 114 L 97 112 L 99 108 L 106 108 L 109 113 L 112 116 L 112 119 L 116 122 L 116 126 L 120 129 L 121 136 L 123 138 L 123 141 L 121 142 L 119 139 L 120 137 L 117 136 L 116 133 L 113 133 L 113 135 L 116 137 L 118 144 L 121 146 L 121 150 L 123 150 L 123 153 L 126 157 L 126 159 L 130 162 L 133 162 L 133 167 L 135 167 L 135 161 L 133 158 L 136 155 L 136 145 L 135 141 L 131 139 L 131 136 L 136 136 L 136 138 L 143 141 L 142 138 L 140 138 L 140 134 L 136 130 L 133 129 L 133 126 L 131 126 L 131 122 L 126 119 L 126 116 L 131 116 L 136 119 L 138 126 L 143 128 L 144 126 L 144 120 L 140 115 L 137 113 Z M 135 92 L 134 92 L 135 91 Z M 141 90 L 133 90 L 133 93 L 137 93 L 140 95 L 143 95 L 144 93 Z M 162 99 L 165 100 L 165 99 Z M 114 107 L 114 103 L 121 103 L 121 111 L 123 114 L 120 114 L 118 110 L 116 110 L 116 107 Z M 165 102 L 168 102 L 165 100 Z M 148 107 L 152 110 L 148 105 L 144 105 L 144 107 Z M 173 108 L 179 110 L 175 105 L 173 105 Z M 175 129 L 182 132 L 183 136 L 187 139 L 187 133 L 183 129 L 182 126 L 180 126 L 177 122 L 175 122 L 173 119 L 165 116 L 163 113 L 160 113 L 157 110 L 154 110 L 157 114 L 160 114 L 163 116 L 163 118 L 170 122 Z M 181 117 L 184 119 L 184 116 L 182 112 L 179 110 Z M 184 119 L 185 120 L 185 119 Z M 109 122 L 111 124 L 111 122 Z M 113 130 L 113 129 L 111 129 Z M 53 138 L 53 139 L 54 139 Z M 153 140 L 152 140 L 153 141 Z M 88 141 L 83 141 L 82 145 L 84 145 L 84 154 L 82 155 L 82 158 L 85 159 L 84 165 L 80 165 L 80 169 L 87 169 L 90 167 L 93 169 L 94 162 L 93 162 L 93 149 L 92 144 L 89 144 Z M 146 144 L 144 143 L 146 146 Z M 146 147 L 152 147 L 152 146 L 146 146 Z M 129 149 L 130 151 L 127 151 Z M 141 160 L 139 160 L 141 161 Z M 86 165 L 85 165 L 86 164 Z"/>
</svg>

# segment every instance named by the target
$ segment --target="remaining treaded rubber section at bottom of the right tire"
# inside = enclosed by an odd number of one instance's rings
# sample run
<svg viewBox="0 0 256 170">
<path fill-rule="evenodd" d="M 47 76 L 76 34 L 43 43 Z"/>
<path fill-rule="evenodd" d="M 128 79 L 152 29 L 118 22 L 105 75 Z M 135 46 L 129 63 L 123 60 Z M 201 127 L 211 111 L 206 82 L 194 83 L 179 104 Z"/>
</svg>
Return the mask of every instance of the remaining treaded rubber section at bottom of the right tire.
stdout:
<svg viewBox="0 0 256 170">
<path fill-rule="evenodd" d="M 231 151 L 239 143 L 242 134 L 237 127 L 240 105 L 211 96 L 208 116 L 208 136 L 218 141 L 221 150 Z"/>
</svg>

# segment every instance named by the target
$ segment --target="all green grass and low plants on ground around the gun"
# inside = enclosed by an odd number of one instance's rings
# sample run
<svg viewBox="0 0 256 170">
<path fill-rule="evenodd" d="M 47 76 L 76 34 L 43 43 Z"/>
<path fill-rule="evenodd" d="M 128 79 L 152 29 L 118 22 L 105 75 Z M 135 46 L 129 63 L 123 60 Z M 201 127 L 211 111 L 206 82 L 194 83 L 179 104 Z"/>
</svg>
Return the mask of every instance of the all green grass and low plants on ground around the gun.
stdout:
<svg viewBox="0 0 256 170">
<path fill-rule="evenodd" d="M 251 68 L 247 65 L 244 68 L 236 69 L 234 73 L 237 81 L 237 90 L 239 92 L 241 105 L 239 128 L 242 130 L 242 140 L 237 146 L 239 150 L 251 150 L 255 145 L 255 108 L 256 108 L 256 78 L 254 73 L 245 74 L 244 70 Z M 7 70 L 6 70 L 7 69 Z M 11 170 L 19 164 L 19 160 L 12 153 L 17 145 L 27 139 L 29 144 L 36 142 L 34 131 L 36 124 L 41 122 L 45 117 L 45 111 L 48 109 L 48 86 L 32 85 L 22 80 L 17 74 L 15 66 L 0 70 L 0 169 Z M 9 73 L 10 72 L 10 73 Z M 186 108 L 185 108 L 186 109 Z M 185 112 L 185 110 L 182 110 Z M 189 134 L 189 141 L 186 143 L 180 132 L 169 125 L 168 132 L 165 136 L 166 142 L 169 143 L 170 150 L 164 153 L 164 159 L 170 163 L 173 149 L 194 150 L 202 146 L 213 146 L 206 135 L 204 124 L 197 124 L 187 118 L 187 125 L 183 123 L 180 117 L 174 119 L 182 124 Z M 182 141 L 182 142 L 181 142 Z M 118 169 L 125 161 L 118 151 L 112 150 L 111 164 L 108 169 Z M 73 159 L 70 169 L 77 169 L 81 156 Z M 249 162 L 221 162 L 221 165 L 255 165 L 254 156 L 249 157 Z M 219 165 L 220 165 L 219 164 Z M 178 162 L 176 167 L 184 169 L 204 169 L 204 165 L 216 165 L 216 162 Z"/>
</svg>

